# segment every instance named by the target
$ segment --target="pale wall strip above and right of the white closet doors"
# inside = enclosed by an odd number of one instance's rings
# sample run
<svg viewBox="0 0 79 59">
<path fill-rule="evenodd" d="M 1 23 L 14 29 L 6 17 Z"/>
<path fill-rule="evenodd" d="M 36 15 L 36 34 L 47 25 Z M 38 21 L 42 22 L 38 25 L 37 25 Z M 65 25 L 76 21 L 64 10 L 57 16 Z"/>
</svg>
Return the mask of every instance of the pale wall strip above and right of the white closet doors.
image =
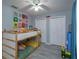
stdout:
<svg viewBox="0 0 79 59">
<path fill-rule="evenodd" d="M 62 11 L 62 12 L 55 12 L 55 13 L 51 12 L 51 13 L 48 13 L 48 14 L 45 14 L 45 15 L 36 16 L 35 19 L 40 20 L 42 18 L 46 18 L 46 16 L 51 16 L 51 17 L 66 16 L 66 31 L 67 32 L 69 31 L 68 26 L 69 26 L 69 24 L 71 24 L 71 11 Z"/>
</svg>

